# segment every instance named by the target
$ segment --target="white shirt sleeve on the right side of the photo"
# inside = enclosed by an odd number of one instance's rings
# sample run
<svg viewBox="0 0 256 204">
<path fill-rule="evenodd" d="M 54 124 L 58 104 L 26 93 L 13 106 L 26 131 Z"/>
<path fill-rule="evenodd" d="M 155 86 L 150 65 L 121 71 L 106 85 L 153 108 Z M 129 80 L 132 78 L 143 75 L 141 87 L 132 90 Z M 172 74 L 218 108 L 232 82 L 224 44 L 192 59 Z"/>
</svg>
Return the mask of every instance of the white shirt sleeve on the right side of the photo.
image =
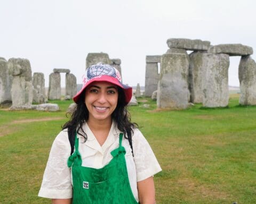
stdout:
<svg viewBox="0 0 256 204">
<path fill-rule="evenodd" d="M 132 137 L 134 163 L 137 172 L 137 182 L 147 179 L 154 174 L 161 172 L 162 169 L 157 162 L 153 150 L 149 146 L 148 141 L 138 130 L 134 130 Z"/>
</svg>

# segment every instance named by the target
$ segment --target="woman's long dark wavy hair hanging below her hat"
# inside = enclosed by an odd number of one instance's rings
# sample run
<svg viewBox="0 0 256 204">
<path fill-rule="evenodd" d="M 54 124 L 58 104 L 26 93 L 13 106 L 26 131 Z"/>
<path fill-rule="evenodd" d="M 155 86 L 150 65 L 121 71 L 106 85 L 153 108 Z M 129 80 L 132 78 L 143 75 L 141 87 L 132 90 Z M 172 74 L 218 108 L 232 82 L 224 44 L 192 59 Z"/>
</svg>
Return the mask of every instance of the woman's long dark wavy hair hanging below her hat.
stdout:
<svg viewBox="0 0 256 204">
<path fill-rule="evenodd" d="M 115 111 L 112 113 L 111 118 L 116 122 L 118 130 L 123 132 L 124 137 L 129 140 L 130 146 L 132 148 L 133 129 L 138 128 L 138 124 L 131 122 L 131 115 L 127 111 L 127 105 L 125 104 L 125 95 L 123 89 L 117 87 L 117 90 L 117 106 Z M 76 132 L 77 134 L 82 135 L 82 137 L 84 138 L 84 142 L 86 142 L 87 140 L 87 134 L 83 130 L 84 122 L 87 122 L 89 119 L 89 111 L 84 103 L 85 91 L 86 89 L 82 92 L 81 96 L 79 97 L 77 105 L 74 109 L 73 114 L 71 115 L 70 120 L 62 126 L 62 130 L 68 129 L 68 138 L 71 145 L 71 154 L 74 151 Z"/>
</svg>

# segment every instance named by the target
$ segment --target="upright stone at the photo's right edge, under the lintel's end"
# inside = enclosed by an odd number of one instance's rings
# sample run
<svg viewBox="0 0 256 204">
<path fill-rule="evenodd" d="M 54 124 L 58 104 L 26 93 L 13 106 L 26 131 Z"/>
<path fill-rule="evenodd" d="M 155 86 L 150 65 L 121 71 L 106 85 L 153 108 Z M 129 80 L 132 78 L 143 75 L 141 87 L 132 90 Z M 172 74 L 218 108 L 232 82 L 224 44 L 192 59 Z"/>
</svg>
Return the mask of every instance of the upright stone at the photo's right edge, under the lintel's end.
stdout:
<svg viewBox="0 0 256 204">
<path fill-rule="evenodd" d="M 256 105 L 256 64 L 251 56 L 242 56 L 239 63 L 238 77 L 240 82 L 241 105 Z"/>
</svg>

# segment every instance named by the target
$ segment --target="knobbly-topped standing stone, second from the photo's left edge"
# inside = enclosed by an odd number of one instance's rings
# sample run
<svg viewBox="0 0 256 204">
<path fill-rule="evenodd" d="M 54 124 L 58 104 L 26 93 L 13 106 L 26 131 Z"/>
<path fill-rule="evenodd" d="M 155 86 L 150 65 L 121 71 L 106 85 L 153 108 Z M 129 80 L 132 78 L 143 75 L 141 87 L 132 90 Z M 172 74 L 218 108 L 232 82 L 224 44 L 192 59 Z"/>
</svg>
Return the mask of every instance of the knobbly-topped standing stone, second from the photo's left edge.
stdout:
<svg viewBox="0 0 256 204">
<path fill-rule="evenodd" d="M 21 58 L 10 58 L 8 61 L 9 73 L 12 80 L 11 109 L 30 108 L 33 101 L 32 72 L 30 62 Z"/>
</svg>

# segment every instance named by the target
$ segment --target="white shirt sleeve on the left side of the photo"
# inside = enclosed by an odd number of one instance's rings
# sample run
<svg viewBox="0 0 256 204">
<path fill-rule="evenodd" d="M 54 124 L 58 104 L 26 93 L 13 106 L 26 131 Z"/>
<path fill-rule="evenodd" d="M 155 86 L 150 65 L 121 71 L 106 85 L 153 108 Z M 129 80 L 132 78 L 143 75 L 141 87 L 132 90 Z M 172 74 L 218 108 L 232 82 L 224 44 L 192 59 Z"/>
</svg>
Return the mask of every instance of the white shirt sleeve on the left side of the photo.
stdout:
<svg viewBox="0 0 256 204">
<path fill-rule="evenodd" d="M 70 143 L 67 131 L 61 131 L 55 138 L 44 171 L 43 181 L 38 196 L 51 199 L 73 197 L 70 168 L 67 160 L 70 156 Z"/>
</svg>

